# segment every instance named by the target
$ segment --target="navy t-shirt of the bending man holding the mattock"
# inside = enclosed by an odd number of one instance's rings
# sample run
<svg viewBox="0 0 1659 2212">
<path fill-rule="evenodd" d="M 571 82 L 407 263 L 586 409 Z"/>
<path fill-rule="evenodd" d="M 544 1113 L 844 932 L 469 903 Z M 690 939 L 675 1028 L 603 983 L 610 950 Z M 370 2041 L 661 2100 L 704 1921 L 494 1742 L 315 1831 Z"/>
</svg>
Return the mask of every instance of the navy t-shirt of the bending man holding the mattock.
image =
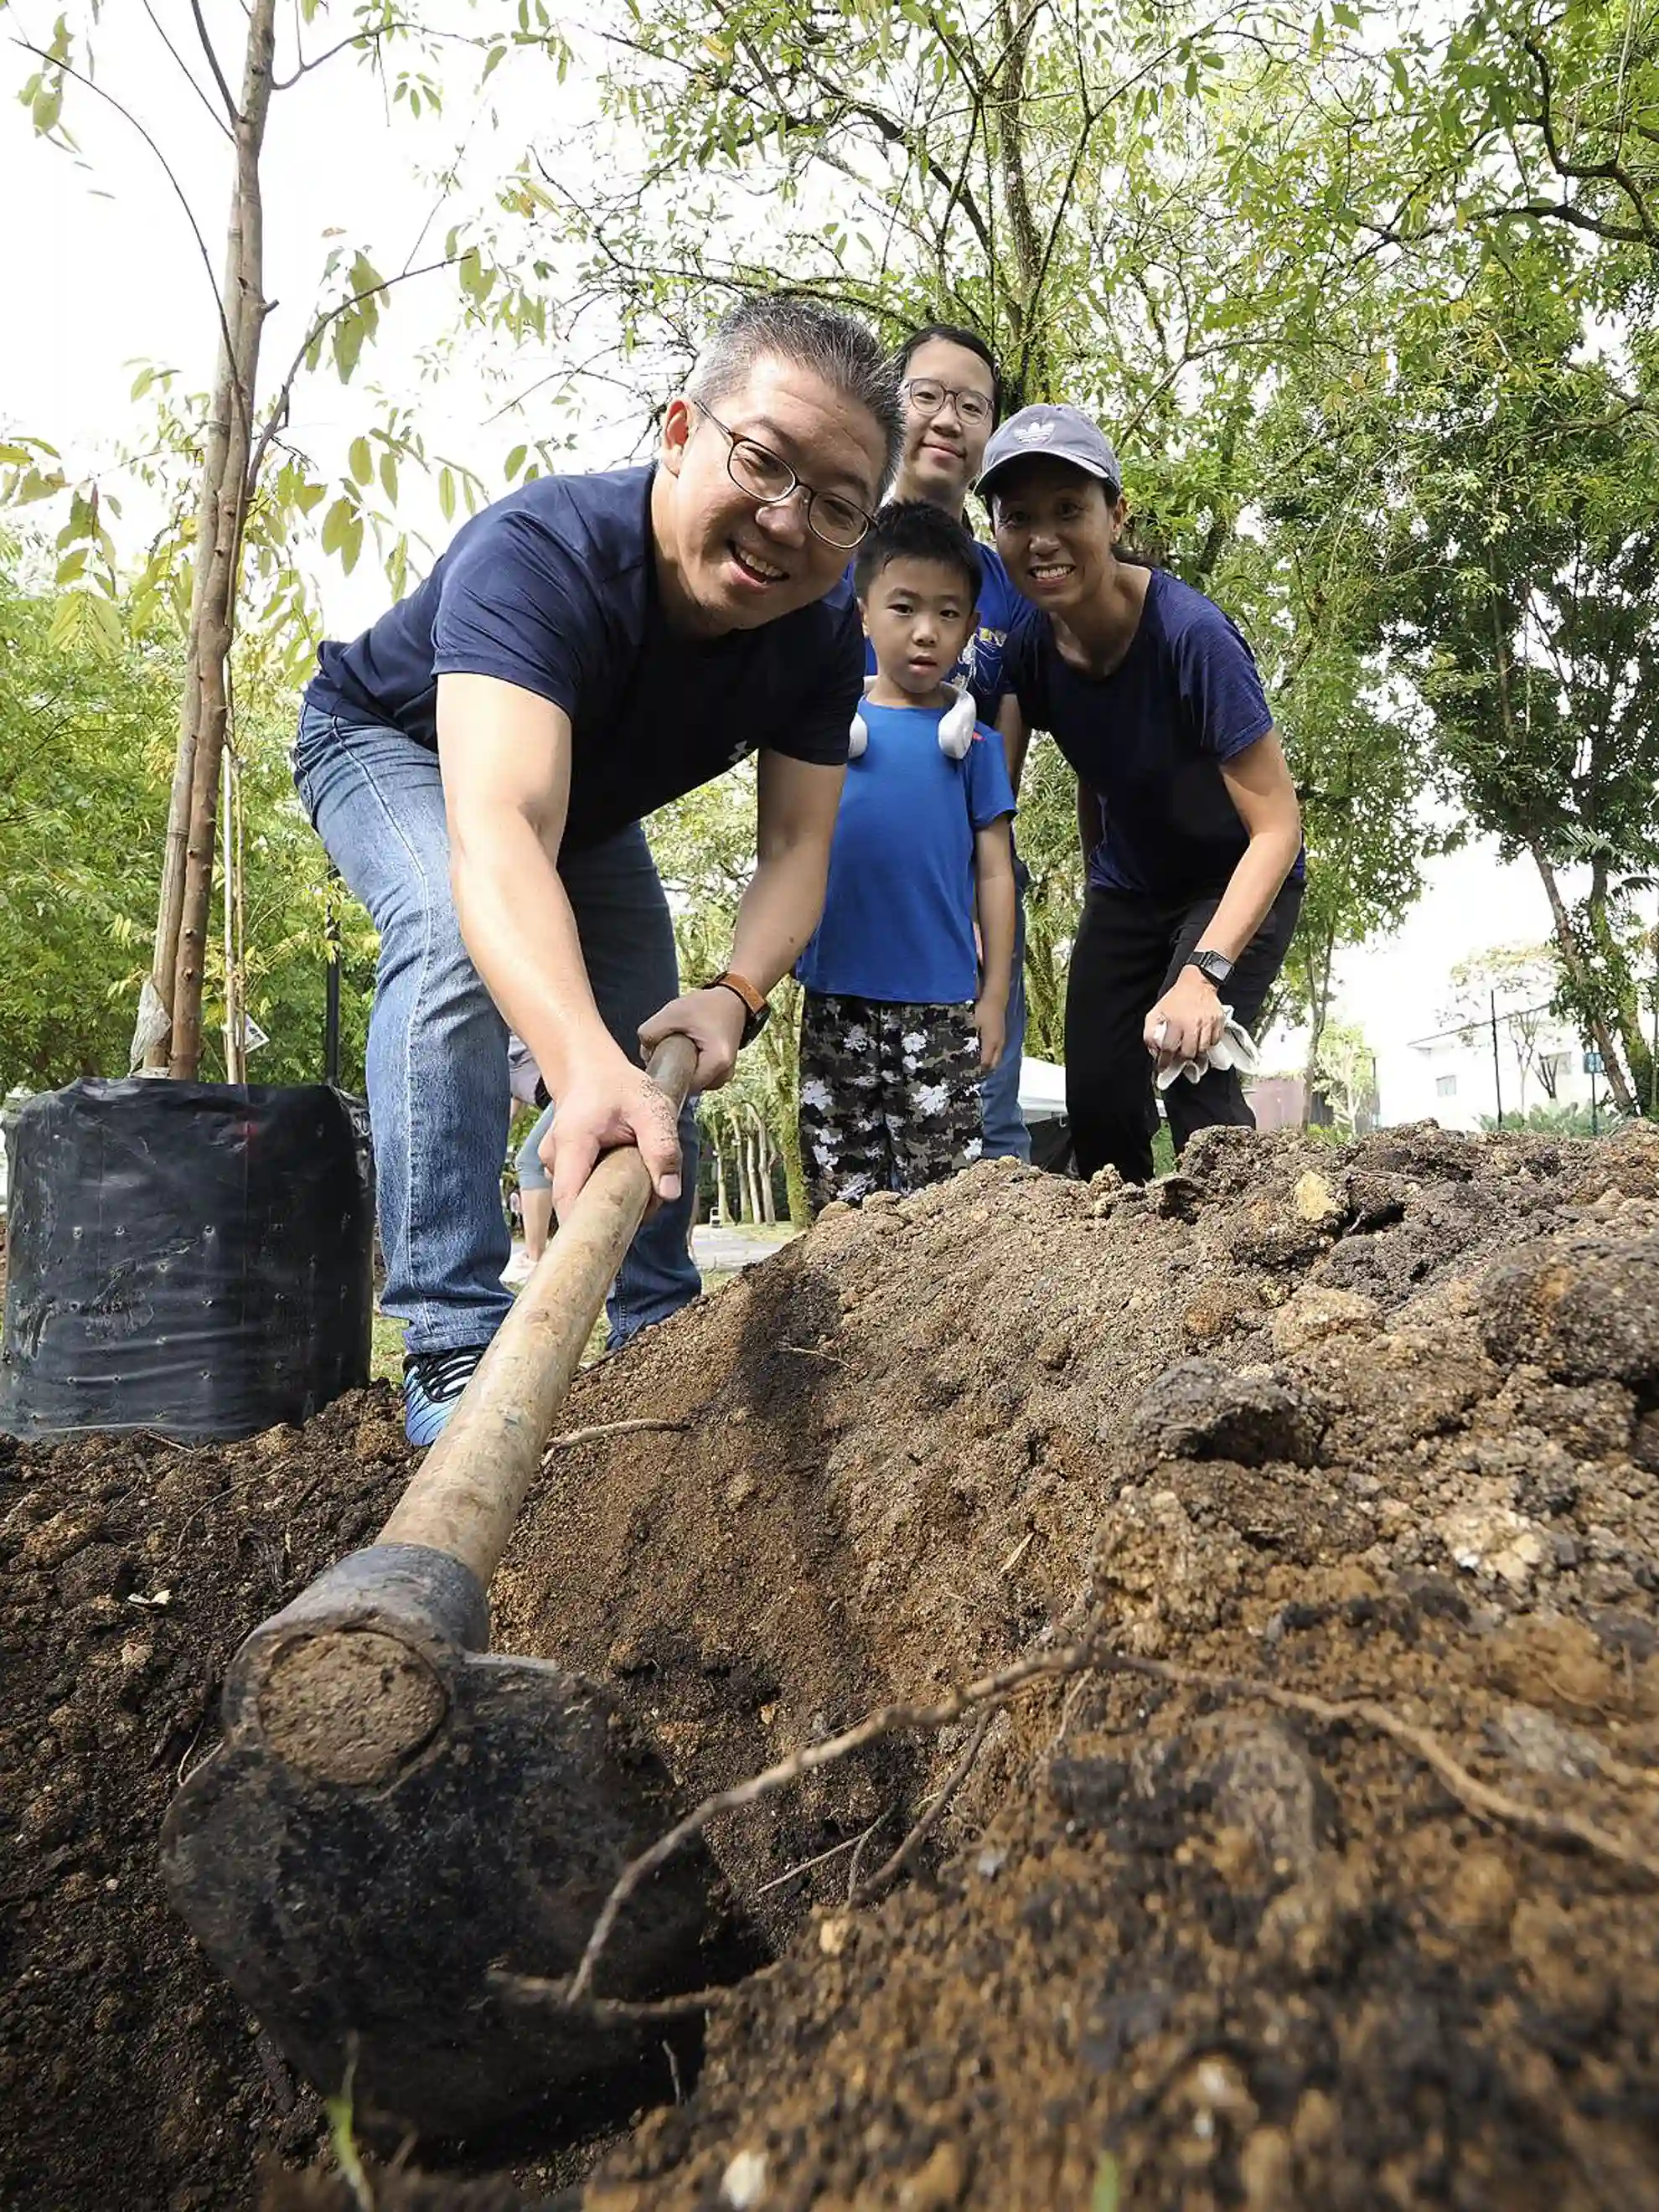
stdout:
<svg viewBox="0 0 1659 2212">
<path fill-rule="evenodd" d="M 544 476 L 458 531 L 418 591 L 319 648 L 307 703 L 438 745 L 438 677 L 518 684 L 571 717 L 564 845 L 615 836 L 768 745 L 838 768 L 865 648 L 845 582 L 726 637 L 677 637 L 650 538 L 655 469 Z"/>
</svg>

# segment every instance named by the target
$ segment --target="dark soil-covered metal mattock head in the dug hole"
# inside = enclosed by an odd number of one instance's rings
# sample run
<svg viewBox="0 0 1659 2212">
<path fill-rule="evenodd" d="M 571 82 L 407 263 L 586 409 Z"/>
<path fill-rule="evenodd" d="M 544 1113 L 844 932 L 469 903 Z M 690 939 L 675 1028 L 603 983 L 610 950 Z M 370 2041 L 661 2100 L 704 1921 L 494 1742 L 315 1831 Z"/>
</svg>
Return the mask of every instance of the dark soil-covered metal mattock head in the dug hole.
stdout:
<svg viewBox="0 0 1659 2212">
<path fill-rule="evenodd" d="M 354 1553 L 237 1652 L 223 1743 L 161 1834 L 173 1902 L 319 2088 L 367 2119 L 467 2135 L 624 2064 L 637 2033 L 502 2002 L 560 1980 L 624 1865 L 679 1816 L 608 1690 L 491 1657 L 445 1553 Z M 604 1995 L 708 1980 L 730 1918 L 701 1845 L 630 1902 Z"/>
</svg>

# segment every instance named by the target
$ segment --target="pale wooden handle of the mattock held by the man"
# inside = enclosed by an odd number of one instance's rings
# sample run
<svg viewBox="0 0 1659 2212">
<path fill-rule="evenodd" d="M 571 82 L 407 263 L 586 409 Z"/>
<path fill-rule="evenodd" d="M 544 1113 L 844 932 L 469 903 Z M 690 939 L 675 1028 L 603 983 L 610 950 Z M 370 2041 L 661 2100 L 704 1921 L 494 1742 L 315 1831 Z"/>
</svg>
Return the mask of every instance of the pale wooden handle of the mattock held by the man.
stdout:
<svg viewBox="0 0 1659 2212">
<path fill-rule="evenodd" d="M 690 1037 L 664 1037 L 650 1055 L 650 1079 L 675 1113 L 695 1066 Z M 639 1150 L 628 1144 L 606 1152 L 398 1500 L 380 1544 L 447 1551 L 489 1588 L 648 1199 L 650 1175 Z"/>
</svg>

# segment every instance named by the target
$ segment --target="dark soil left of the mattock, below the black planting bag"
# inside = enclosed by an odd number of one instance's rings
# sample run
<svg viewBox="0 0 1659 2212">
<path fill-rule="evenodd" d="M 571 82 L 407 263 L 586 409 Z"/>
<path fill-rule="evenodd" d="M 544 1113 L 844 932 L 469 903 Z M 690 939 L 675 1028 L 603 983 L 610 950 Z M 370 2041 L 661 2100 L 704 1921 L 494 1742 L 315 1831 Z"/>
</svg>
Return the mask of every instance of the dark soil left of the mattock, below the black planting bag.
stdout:
<svg viewBox="0 0 1659 2212">
<path fill-rule="evenodd" d="M 175 1920 L 155 1871 L 243 1632 L 361 1544 L 405 1478 L 385 1391 L 305 1433 L 0 1438 L 0 2203 L 232 2208 L 319 2108 Z"/>
</svg>

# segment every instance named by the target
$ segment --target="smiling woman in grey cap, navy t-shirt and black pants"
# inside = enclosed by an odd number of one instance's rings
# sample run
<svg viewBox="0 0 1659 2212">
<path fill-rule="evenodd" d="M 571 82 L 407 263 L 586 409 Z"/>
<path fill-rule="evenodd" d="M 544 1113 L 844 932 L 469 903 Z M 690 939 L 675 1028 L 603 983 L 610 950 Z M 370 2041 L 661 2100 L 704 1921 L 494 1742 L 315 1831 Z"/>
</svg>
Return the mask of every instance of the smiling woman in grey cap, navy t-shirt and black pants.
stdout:
<svg viewBox="0 0 1659 2212">
<path fill-rule="evenodd" d="M 1166 568 L 1119 555 L 1126 502 L 1077 407 L 1024 407 L 978 491 L 1031 602 L 1004 675 L 1077 770 L 1088 896 L 1066 989 L 1066 1113 L 1084 1175 L 1152 1172 L 1152 1073 L 1250 1029 L 1303 896 L 1301 810 L 1250 646 Z M 1254 1128 L 1232 1068 L 1166 1091 L 1175 1148 Z"/>
</svg>

